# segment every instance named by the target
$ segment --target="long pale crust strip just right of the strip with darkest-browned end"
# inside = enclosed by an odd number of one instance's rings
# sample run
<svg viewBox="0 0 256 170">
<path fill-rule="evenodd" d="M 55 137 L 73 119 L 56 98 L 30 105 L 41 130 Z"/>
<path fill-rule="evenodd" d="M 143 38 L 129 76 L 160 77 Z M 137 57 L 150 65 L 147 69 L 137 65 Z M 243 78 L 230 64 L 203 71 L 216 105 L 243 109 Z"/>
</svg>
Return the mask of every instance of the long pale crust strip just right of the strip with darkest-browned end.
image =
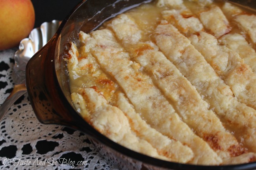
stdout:
<svg viewBox="0 0 256 170">
<path fill-rule="evenodd" d="M 163 22 L 154 32 L 157 46 L 191 82 L 225 124 L 244 139 L 245 146 L 256 151 L 256 110 L 241 104 L 204 57 L 173 25 Z"/>
</svg>

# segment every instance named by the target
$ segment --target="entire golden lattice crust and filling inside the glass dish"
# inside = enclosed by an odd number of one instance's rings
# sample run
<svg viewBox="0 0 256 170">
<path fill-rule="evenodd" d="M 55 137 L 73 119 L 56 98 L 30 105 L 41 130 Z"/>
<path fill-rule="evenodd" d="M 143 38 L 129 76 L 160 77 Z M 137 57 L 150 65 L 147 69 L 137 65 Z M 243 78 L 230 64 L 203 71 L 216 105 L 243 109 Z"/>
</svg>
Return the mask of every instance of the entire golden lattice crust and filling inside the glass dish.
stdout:
<svg viewBox="0 0 256 170">
<path fill-rule="evenodd" d="M 74 108 L 111 140 L 158 159 L 255 161 L 255 16 L 190 1 L 199 5 L 158 0 L 154 24 L 136 20 L 154 9 L 145 5 L 81 31 L 66 58 Z"/>
</svg>

